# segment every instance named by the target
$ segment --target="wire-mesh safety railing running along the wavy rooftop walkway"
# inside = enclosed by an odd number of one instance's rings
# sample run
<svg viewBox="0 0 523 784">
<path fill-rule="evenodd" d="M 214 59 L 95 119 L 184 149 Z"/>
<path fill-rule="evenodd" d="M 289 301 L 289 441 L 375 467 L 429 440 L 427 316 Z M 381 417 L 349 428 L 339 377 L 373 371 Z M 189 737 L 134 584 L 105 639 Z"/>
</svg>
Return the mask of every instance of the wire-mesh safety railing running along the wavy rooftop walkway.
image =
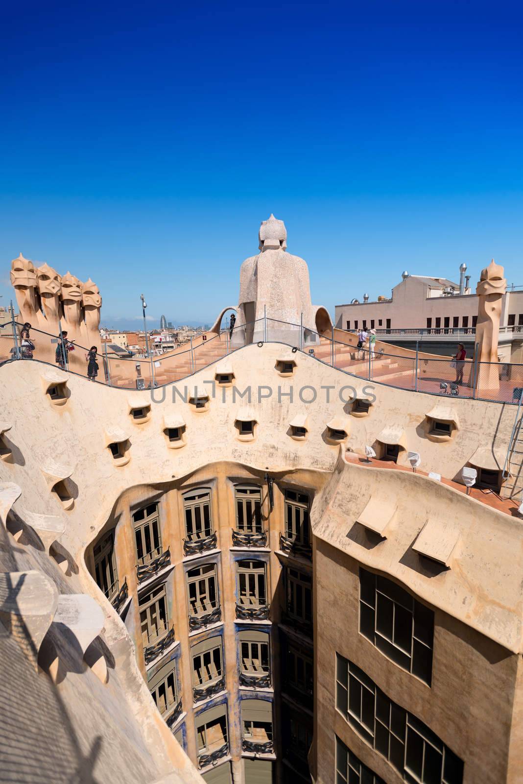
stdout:
<svg viewBox="0 0 523 784">
<path fill-rule="evenodd" d="M 453 328 L 448 328 L 452 330 Z M 471 328 L 472 329 L 472 328 Z M 522 327 L 523 329 L 523 327 Z M 29 338 L 21 336 L 22 325 L 9 322 L 0 328 L 0 364 L 9 361 L 45 362 L 80 376 L 88 376 L 88 349 L 74 343 L 73 351 L 61 350 L 60 336 L 31 328 Z M 442 332 L 445 328 L 442 328 Z M 385 332 L 388 332 L 385 330 Z M 368 343 L 360 349 L 355 346 L 355 336 L 344 332 L 347 340 L 330 336 L 280 319 L 261 318 L 247 325 L 222 329 L 219 333 L 202 339 L 196 346 L 167 355 L 154 355 L 149 359 L 120 358 L 105 350 L 96 354 L 98 372 L 92 383 L 103 383 L 124 390 L 152 390 L 168 384 L 185 382 L 184 394 L 191 394 L 189 379 L 193 374 L 217 361 L 224 360 L 254 339 L 259 343 L 283 343 L 294 352 L 303 352 L 331 365 L 348 376 L 366 379 L 397 389 L 443 395 L 468 397 L 503 404 L 518 405 L 523 390 L 523 365 L 510 362 L 480 362 L 477 346 L 473 356 L 463 366 L 447 358 L 432 357 L 417 347 L 404 353 L 386 343 L 370 349 Z M 282 348 L 287 356 L 288 349 Z M 132 364 L 129 364 L 132 363 Z M 134 365 L 134 367 L 133 367 Z M 463 372 L 462 372 L 463 371 Z M 215 372 L 212 372 L 205 389 L 212 394 Z M 349 385 L 348 385 L 349 386 Z M 182 388 L 179 388 L 181 397 Z"/>
</svg>

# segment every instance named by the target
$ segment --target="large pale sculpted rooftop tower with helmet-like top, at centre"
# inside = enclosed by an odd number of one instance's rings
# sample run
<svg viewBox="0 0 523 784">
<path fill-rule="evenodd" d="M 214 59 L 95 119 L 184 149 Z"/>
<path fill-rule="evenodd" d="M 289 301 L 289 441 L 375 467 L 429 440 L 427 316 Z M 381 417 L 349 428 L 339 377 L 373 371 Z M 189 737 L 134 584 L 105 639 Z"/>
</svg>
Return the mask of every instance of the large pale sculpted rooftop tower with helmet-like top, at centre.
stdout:
<svg viewBox="0 0 523 784">
<path fill-rule="evenodd" d="M 303 339 L 311 346 L 319 343 L 318 332 L 330 334 L 332 321 L 324 307 L 311 303 L 307 263 L 287 252 L 287 229 L 273 215 L 263 220 L 258 232 L 257 256 L 246 259 L 240 269 L 240 301 L 236 310 L 235 339 L 243 343 L 264 340 L 264 314 L 269 339 L 287 343 Z M 289 322 L 291 325 L 283 322 Z"/>
</svg>

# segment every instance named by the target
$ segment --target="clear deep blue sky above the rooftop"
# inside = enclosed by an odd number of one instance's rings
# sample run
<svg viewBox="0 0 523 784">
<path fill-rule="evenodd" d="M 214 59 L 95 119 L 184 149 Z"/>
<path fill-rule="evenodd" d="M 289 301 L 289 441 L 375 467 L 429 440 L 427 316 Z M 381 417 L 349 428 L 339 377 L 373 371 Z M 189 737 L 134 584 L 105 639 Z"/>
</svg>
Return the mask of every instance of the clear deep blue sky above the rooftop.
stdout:
<svg viewBox="0 0 523 784">
<path fill-rule="evenodd" d="M 274 212 L 312 299 L 403 269 L 523 285 L 521 2 L 5 5 L 0 294 L 22 251 L 103 322 L 211 321 Z"/>
</svg>

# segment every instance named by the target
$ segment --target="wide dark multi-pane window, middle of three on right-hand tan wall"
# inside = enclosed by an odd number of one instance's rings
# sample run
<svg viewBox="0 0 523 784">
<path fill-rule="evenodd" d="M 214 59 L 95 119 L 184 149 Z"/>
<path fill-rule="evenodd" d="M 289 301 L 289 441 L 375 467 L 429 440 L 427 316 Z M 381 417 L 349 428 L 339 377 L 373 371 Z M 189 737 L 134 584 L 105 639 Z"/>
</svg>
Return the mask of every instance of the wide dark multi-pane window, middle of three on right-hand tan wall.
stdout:
<svg viewBox="0 0 523 784">
<path fill-rule="evenodd" d="M 359 667 L 337 654 L 336 707 L 410 784 L 462 784 L 463 761 Z"/>
</svg>

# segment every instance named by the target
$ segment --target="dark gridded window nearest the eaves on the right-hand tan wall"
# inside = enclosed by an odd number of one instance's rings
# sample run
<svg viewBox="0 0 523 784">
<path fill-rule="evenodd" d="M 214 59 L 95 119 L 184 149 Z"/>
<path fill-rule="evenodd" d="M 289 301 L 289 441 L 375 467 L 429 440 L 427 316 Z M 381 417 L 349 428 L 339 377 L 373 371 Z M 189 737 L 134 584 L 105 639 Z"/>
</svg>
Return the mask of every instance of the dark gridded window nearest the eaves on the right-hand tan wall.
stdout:
<svg viewBox="0 0 523 784">
<path fill-rule="evenodd" d="M 431 685 L 434 612 L 396 583 L 363 568 L 359 631 L 395 664 Z"/>
</svg>

